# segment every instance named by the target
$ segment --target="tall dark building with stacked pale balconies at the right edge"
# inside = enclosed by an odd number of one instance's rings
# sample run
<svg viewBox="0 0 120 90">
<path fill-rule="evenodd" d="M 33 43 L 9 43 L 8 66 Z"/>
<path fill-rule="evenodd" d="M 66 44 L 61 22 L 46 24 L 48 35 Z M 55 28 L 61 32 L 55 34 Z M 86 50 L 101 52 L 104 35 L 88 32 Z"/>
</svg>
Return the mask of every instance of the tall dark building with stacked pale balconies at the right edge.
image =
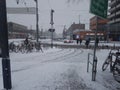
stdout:
<svg viewBox="0 0 120 90">
<path fill-rule="evenodd" d="M 113 41 L 120 41 L 120 0 L 109 1 L 108 35 Z"/>
</svg>

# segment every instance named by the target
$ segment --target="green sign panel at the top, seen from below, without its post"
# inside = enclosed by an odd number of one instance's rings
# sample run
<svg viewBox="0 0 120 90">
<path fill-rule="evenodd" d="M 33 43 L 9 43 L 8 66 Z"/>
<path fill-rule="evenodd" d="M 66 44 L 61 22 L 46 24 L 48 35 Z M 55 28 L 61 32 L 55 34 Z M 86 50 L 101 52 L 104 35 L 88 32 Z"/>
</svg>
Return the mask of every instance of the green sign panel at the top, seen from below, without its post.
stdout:
<svg viewBox="0 0 120 90">
<path fill-rule="evenodd" d="M 91 0 L 90 13 L 107 18 L 108 0 Z"/>
</svg>

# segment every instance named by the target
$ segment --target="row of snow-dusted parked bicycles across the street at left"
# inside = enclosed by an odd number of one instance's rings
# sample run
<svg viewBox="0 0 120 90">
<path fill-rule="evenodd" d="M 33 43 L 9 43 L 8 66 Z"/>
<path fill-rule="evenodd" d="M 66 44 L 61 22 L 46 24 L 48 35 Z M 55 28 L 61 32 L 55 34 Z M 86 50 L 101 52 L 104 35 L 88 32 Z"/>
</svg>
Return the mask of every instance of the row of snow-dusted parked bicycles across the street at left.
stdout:
<svg viewBox="0 0 120 90">
<path fill-rule="evenodd" d="M 26 42 L 25 40 L 17 44 L 14 41 L 9 43 L 9 52 L 30 53 L 32 51 L 39 51 L 39 50 L 43 52 L 40 42 L 39 43 L 31 42 L 31 41 Z"/>
</svg>

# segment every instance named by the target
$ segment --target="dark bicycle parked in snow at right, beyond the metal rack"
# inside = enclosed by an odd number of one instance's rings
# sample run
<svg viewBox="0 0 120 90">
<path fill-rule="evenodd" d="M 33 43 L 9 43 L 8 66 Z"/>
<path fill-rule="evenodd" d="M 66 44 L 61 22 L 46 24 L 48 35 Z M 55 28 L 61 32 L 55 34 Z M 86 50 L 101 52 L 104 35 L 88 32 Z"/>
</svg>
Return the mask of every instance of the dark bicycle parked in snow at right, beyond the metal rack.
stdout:
<svg viewBox="0 0 120 90">
<path fill-rule="evenodd" d="M 115 59 L 113 59 L 113 56 Z M 110 50 L 108 57 L 102 65 L 102 71 L 105 71 L 110 65 L 110 71 L 113 73 L 114 79 L 120 83 L 120 52 L 112 52 Z"/>
</svg>

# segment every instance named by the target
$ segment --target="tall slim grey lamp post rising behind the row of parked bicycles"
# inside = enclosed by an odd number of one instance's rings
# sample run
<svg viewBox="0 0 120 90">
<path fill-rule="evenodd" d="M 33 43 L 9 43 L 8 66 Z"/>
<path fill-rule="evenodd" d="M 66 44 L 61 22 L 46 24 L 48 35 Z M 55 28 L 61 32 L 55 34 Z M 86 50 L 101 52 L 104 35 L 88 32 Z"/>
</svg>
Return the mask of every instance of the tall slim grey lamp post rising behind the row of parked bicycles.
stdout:
<svg viewBox="0 0 120 90">
<path fill-rule="evenodd" d="M 36 3 L 36 42 L 38 42 L 39 40 L 39 14 L 38 14 L 38 0 L 34 0 Z"/>
</svg>

